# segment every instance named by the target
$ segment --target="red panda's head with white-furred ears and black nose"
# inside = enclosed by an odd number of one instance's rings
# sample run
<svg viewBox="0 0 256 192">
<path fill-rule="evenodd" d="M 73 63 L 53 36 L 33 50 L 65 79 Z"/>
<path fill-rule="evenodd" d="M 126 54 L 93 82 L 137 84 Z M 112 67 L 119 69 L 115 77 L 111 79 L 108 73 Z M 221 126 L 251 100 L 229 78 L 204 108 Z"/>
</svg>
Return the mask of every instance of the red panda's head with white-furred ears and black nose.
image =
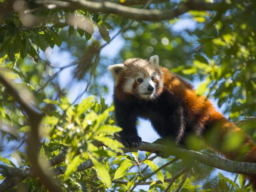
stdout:
<svg viewBox="0 0 256 192">
<path fill-rule="evenodd" d="M 127 59 L 122 64 L 108 67 L 115 79 L 115 89 L 139 99 L 155 99 L 162 91 L 163 81 L 159 57 L 145 59 Z"/>
</svg>

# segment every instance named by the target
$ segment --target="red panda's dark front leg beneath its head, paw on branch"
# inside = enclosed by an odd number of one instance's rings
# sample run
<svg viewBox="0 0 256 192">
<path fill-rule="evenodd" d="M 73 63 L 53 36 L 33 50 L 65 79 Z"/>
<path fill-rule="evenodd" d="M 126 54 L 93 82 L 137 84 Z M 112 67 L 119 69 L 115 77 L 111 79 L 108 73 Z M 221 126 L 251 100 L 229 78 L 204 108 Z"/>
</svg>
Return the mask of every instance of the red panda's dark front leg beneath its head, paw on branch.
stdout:
<svg viewBox="0 0 256 192">
<path fill-rule="evenodd" d="M 123 131 L 119 132 L 123 145 L 125 147 L 138 147 L 142 140 L 137 133 L 137 116 L 133 107 L 117 99 L 114 100 L 114 104 L 117 125 L 123 128 Z"/>
</svg>

